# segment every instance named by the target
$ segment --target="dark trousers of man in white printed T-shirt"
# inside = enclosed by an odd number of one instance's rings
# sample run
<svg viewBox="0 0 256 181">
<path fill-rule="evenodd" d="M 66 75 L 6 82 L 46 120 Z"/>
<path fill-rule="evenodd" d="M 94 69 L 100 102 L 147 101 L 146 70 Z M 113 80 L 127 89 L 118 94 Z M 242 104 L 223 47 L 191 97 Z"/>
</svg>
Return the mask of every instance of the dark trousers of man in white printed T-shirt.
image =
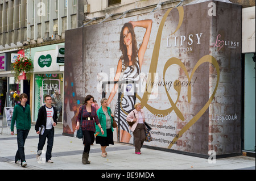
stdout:
<svg viewBox="0 0 256 181">
<path fill-rule="evenodd" d="M 44 134 L 39 134 L 39 143 L 38 143 L 38 154 L 42 153 L 44 144 L 46 144 L 47 138 L 47 150 L 46 150 L 46 162 L 52 158 L 52 147 L 53 147 L 53 137 L 54 129 L 45 129 Z"/>
</svg>

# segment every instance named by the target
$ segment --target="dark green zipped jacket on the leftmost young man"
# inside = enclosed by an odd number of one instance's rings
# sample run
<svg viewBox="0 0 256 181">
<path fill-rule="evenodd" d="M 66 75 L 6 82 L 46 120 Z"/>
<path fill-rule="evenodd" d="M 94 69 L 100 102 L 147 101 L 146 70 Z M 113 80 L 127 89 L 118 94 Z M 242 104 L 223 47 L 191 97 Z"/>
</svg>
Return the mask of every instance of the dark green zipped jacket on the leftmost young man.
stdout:
<svg viewBox="0 0 256 181">
<path fill-rule="evenodd" d="M 14 107 L 13 117 L 11 119 L 11 132 L 14 131 L 15 121 L 17 130 L 31 128 L 30 105 L 26 104 L 25 108 L 23 108 L 21 104 L 17 104 Z"/>
</svg>

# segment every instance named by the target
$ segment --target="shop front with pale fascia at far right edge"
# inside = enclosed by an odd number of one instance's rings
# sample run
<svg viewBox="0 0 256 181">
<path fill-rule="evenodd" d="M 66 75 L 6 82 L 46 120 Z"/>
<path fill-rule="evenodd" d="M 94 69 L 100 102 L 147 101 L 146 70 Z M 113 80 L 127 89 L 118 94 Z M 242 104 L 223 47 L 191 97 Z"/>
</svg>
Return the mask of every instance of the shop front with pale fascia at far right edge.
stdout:
<svg viewBox="0 0 256 181">
<path fill-rule="evenodd" d="M 255 157 L 255 6 L 242 13 L 242 151 Z"/>
</svg>

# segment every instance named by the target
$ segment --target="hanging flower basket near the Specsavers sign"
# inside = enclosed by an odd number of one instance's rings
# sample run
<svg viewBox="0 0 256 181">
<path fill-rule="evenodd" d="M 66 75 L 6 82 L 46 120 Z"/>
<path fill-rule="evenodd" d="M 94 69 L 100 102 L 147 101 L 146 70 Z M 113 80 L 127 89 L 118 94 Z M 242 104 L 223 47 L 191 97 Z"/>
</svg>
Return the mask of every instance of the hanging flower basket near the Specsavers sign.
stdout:
<svg viewBox="0 0 256 181">
<path fill-rule="evenodd" d="M 19 81 L 19 76 L 26 73 L 27 80 L 30 80 L 34 70 L 32 61 L 28 57 L 20 56 L 16 58 L 15 62 L 11 64 L 12 72 L 14 73 L 15 81 Z"/>
</svg>

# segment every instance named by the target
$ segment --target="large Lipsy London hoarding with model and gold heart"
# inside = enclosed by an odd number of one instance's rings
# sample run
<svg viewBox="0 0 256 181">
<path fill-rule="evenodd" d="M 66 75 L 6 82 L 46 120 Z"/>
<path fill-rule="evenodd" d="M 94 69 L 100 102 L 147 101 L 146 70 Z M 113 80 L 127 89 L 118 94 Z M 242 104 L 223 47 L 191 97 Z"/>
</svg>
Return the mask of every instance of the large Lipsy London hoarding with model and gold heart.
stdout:
<svg viewBox="0 0 256 181">
<path fill-rule="evenodd" d="M 85 95 L 100 104 L 104 91 L 121 142 L 133 142 L 125 119 L 140 102 L 153 137 L 144 145 L 240 153 L 241 6 L 208 1 L 77 28 L 65 50 L 64 133 Z"/>
</svg>

